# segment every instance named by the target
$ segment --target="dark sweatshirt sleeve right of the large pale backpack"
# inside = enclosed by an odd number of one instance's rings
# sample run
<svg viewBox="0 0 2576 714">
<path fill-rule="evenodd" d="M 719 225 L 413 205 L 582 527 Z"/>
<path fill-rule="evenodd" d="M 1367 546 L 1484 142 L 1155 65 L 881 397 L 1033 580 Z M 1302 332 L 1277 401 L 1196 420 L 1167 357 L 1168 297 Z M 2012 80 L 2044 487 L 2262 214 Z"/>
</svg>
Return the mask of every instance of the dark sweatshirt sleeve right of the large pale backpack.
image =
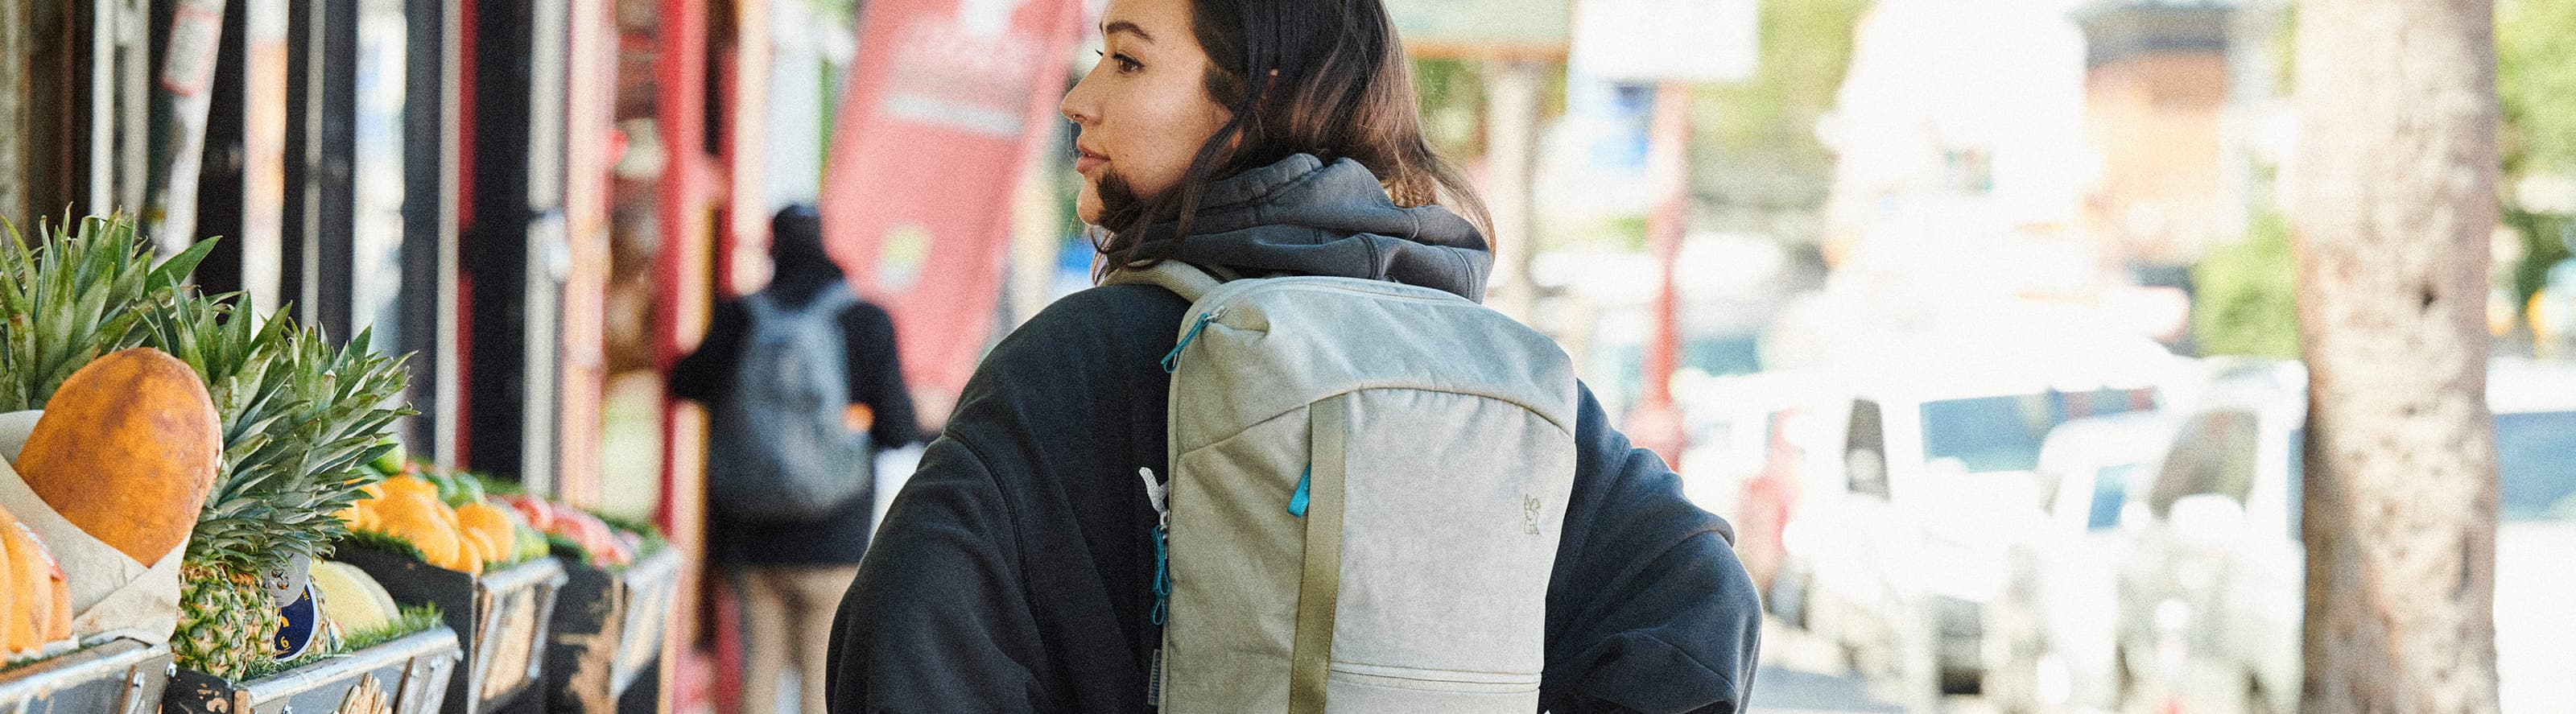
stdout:
<svg viewBox="0 0 2576 714">
<path fill-rule="evenodd" d="M 1582 392 L 1574 500 L 1548 588 L 1540 706 L 1595 711 L 1744 711 L 1762 603 L 1734 554 L 1734 528 L 1682 497 L 1654 451 L 1607 425 Z"/>
</svg>

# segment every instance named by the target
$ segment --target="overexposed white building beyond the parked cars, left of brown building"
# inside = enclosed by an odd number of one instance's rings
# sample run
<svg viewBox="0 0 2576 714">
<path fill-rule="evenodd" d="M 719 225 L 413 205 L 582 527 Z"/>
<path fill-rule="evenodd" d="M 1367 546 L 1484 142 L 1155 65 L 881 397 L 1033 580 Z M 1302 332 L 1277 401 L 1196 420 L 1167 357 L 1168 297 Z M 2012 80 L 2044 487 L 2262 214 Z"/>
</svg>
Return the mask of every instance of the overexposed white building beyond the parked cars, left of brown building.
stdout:
<svg viewBox="0 0 2576 714">
<path fill-rule="evenodd" d="M 1772 327 L 1765 363 L 1904 358 L 1932 333 L 2040 338 L 2102 304 L 2081 222 L 2084 36 L 2069 3 L 1875 3 L 1819 124 L 1834 152 L 1826 289 Z M 2020 325 L 2020 327 L 2014 327 Z"/>
</svg>

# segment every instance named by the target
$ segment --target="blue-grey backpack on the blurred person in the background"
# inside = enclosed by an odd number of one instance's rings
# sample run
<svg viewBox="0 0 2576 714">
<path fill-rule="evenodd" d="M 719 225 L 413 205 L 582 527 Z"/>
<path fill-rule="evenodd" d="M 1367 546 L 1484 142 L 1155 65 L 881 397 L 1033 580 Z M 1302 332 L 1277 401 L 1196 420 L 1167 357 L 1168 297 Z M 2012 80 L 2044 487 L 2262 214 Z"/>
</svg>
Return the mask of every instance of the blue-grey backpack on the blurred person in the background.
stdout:
<svg viewBox="0 0 2576 714">
<path fill-rule="evenodd" d="M 750 335 L 716 400 L 708 503 L 734 521 L 796 523 L 840 513 L 876 482 L 866 433 L 842 425 L 850 369 L 840 314 L 858 296 L 827 286 L 804 307 L 768 291 L 742 299 Z"/>
</svg>

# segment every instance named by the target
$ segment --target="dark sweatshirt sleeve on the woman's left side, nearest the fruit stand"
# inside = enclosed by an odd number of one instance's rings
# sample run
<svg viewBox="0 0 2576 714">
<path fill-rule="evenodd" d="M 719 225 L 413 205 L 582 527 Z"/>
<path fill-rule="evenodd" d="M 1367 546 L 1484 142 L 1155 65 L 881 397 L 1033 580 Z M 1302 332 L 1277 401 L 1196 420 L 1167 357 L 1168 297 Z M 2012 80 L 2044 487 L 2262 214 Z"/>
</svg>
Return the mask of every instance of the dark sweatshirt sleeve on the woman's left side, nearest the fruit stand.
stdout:
<svg viewBox="0 0 2576 714">
<path fill-rule="evenodd" d="M 1010 505 L 966 443 L 933 441 L 832 621 L 832 711 L 1051 711 Z"/>
</svg>

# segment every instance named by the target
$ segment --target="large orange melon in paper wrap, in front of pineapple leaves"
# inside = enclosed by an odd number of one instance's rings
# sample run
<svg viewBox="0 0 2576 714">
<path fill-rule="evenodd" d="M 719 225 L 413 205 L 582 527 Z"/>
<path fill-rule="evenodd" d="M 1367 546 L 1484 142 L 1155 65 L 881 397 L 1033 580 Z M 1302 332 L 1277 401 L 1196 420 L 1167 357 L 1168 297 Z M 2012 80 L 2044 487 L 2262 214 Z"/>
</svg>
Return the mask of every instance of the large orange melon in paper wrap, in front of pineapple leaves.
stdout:
<svg viewBox="0 0 2576 714">
<path fill-rule="evenodd" d="M 170 353 L 131 348 L 54 389 L 15 467 L 64 521 L 152 564 L 188 541 L 222 461 L 206 384 Z"/>
</svg>

